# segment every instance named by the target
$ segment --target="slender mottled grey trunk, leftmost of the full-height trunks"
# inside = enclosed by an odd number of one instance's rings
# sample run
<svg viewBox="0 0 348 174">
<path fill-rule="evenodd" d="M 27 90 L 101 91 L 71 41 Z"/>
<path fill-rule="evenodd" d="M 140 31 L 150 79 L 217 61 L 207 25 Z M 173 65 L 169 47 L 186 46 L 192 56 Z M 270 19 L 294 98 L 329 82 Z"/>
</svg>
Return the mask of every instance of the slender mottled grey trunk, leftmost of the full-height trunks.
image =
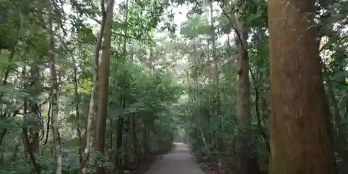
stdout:
<svg viewBox="0 0 348 174">
<path fill-rule="evenodd" d="M 49 14 L 49 30 L 53 31 L 53 12 L 51 11 Z M 54 173 L 61 174 L 62 173 L 62 156 L 61 156 L 61 136 L 59 134 L 59 122 L 58 122 L 58 81 L 57 81 L 57 73 L 56 73 L 56 60 L 54 57 L 54 38 L 52 34 L 49 34 L 49 63 L 51 65 L 51 85 L 52 85 L 52 95 L 51 95 L 51 104 L 52 104 L 52 112 L 51 112 L 51 127 L 52 133 L 54 137 L 54 156 L 56 160 Z"/>
</svg>

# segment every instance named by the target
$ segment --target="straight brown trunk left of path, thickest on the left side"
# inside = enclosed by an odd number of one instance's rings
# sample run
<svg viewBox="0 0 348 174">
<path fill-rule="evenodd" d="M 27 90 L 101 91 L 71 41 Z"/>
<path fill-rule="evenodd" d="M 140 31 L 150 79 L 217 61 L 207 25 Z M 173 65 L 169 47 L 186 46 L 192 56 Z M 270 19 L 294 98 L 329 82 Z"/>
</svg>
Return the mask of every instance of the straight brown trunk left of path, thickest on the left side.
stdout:
<svg viewBox="0 0 348 174">
<path fill-rule="evenodd" d="M 104 155 L 105 151 L 105 130 L 106 130 L 106 113 L 107 106 L 109 104 L 109 68 L 110 68 L 110 56 L 111 56 L 111 22 L 113 20 L 113 5 L 114 1 L 109 0 L 108 6 L 106 6 L 106 20 L 105 20 L 105 33 L 104 41 L 102 44 L 102 63 L 100 69 L 100 95 L 99 105 L 97 112 L 97 122 L 95 129 L 95 150 L 101 152 Z M 104 167 L 100 166 L 97 169 L 97 174 L 104 174 Z"/>
</svg>

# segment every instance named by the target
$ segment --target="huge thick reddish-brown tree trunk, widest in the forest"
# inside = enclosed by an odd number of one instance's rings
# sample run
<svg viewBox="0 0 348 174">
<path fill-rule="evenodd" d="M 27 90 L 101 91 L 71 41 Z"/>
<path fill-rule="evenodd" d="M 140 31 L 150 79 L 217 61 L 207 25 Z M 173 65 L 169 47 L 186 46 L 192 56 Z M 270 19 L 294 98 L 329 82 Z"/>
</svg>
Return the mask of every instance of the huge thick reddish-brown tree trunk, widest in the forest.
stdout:
<svg viewBox="0 0 348 174">
<path fill-rule="evenodd" d="M 270 173 L 335 173 L 315 0 L 269 0 Z"/>
</svg>

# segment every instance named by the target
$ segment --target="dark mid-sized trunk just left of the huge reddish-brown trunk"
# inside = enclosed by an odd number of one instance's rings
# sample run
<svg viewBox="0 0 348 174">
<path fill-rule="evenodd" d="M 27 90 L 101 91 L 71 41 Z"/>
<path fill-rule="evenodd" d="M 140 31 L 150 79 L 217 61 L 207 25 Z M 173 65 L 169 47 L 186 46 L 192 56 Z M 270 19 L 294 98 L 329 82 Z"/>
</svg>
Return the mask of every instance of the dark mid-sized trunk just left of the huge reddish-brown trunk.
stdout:
<svg viewBox="0 0 348 174">
<path fill-rule="evenodd" d="M 239 3 L 239 2 L 235 2 Z M 243 6 L 242 6 L 243 8 Z M 239 47 L 237 58 L 237 116 L 239 129 L 237 136 L 237 170 L 240 174 L 260 173 L 260 167 L 255 159 L 255 152 L 251 146 L 251 100 L 250 100 L 250 79 L 248 62 L 247 38 L 248 32 L 244 29 L 242 21 L 242 8 L 235 13 L 236 21 L 236 44 Z"/>
</svg>

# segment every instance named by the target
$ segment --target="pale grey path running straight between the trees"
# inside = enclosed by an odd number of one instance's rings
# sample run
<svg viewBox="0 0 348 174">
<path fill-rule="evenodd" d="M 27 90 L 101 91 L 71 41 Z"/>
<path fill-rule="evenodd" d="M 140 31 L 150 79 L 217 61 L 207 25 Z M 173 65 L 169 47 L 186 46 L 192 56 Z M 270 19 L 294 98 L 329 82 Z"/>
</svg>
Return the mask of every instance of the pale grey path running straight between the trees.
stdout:
<svg viewBox="0 0 348 174">
<path fill-rule="evenodd" d="M 183 143 L 175 143 L 171 152 L 157 160 L 145 174 L 205 174 L 196 164 L 189 147 Z"/>
</svg>

